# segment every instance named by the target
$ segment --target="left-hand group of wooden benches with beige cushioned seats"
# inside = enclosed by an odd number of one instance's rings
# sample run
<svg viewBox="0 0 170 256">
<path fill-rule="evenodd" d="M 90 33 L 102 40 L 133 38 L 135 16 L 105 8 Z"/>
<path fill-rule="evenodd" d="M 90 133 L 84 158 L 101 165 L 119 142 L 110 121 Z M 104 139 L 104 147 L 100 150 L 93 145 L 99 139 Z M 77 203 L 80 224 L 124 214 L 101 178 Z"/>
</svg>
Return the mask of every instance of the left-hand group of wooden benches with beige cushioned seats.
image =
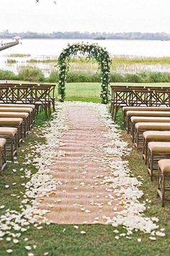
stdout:
<svg viewBox="0 0 170 256">
<path fill-rule="evenodd" d="M 31 132 L 34 121 L 35 105 L 0 104 L 0 172 L 6 166 L 6 153 L 14 161 L 17 148 Z"/>
</svg>

